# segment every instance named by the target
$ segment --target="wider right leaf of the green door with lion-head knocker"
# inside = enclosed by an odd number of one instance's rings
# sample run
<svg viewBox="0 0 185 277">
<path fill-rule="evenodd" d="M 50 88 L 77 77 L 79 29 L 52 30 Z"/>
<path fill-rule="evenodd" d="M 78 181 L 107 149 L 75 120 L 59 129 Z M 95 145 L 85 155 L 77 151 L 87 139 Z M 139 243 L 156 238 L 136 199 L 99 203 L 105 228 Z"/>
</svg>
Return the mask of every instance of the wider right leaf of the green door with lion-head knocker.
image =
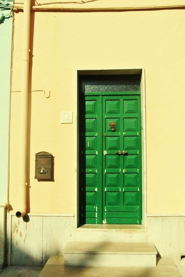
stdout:
<svg viewBox="0 0 185 277">
<path fill-rule="evenodd" d="M 141 224 L 140 96 L 103 96 L 102 105 L 103 223 Z"/>
</svg>

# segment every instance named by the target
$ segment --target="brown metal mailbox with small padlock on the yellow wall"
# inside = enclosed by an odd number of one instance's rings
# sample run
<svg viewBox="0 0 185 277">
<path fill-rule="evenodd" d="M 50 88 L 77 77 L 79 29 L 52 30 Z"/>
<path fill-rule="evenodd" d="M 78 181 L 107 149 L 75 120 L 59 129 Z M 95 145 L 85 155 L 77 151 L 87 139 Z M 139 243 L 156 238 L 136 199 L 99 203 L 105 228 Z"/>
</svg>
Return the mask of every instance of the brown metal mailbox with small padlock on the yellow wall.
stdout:
<svg viewBox="0 0 185 277">
<path fill-rule="evenodd" d="M 42 181 L 53 180 L 53 155 L 48 152 L 35 154 L 35 179 Z"/>
</svg>

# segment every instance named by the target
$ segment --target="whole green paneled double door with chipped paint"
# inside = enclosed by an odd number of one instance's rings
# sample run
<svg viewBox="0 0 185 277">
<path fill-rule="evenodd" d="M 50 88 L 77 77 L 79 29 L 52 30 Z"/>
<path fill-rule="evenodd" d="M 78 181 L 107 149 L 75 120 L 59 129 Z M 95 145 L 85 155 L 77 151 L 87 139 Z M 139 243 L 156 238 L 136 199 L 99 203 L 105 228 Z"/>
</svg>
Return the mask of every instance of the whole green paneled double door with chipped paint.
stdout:
<svg viewBox="0 0 185 277">
<path fill-rule="evenodd" d="M 140 95 L 84 96 L 79 115 L 80 222 L 141 224 Z"/>
</svg>

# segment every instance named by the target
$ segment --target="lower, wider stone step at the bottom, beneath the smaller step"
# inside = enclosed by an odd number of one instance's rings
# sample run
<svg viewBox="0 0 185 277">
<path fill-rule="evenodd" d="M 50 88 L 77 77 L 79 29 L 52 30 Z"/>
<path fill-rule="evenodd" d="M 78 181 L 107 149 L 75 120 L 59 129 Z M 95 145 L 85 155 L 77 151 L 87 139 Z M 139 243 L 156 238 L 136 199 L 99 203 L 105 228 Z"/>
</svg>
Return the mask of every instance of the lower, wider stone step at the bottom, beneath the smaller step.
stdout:
<svg viewBox="0 0 185 277">
<path fill-rule="evenodd" d="M 182 267 L 181 267 L 182 269 Z M 52 255 L 39 277 L 181 277 L 169 257 L 157 257 L 156 267 L 70 267 L 63 256 Z M 183 275 L 184 276 L 184 275 Z"/>
</svg>

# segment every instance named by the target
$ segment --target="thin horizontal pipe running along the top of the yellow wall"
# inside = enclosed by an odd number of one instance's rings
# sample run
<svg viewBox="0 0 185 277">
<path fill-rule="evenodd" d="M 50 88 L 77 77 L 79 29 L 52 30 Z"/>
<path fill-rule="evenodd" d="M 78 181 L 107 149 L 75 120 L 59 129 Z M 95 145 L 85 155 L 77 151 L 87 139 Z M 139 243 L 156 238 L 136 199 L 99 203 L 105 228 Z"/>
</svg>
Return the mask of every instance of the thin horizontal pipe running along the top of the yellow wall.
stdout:
<svg viewBox="0 0 185 277">
<path fill-rule="evenodd" d="M 165 6 L 132 6 L 132 7 L 43 7 L 42 5 L 32 6 L 31 10 L 62 10 L 62 11 L 132 11 L 132 10 L 166 10 L 166 9 L 178 9 L 185 8 L 185 5 L 165 5 Z M 23 10 L 21 6 L 13 6 L 13 10 Z"/>
</svg>

